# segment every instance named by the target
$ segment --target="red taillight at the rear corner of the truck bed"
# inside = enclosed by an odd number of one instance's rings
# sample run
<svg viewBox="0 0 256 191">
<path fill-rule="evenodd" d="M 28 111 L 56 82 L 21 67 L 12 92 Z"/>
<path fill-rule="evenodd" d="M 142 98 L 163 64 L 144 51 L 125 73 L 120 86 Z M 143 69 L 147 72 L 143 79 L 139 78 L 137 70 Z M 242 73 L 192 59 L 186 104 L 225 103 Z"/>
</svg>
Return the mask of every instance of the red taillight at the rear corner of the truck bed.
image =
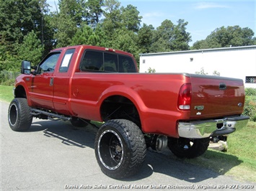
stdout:
<svg viewBox="0 0 256 191">
<path fill-rule="evenodd" d="M 181 86 L 177 105 L 180 110 L 190 110 L 191 89 L 191 83 L 185 83 Z"/>
</svg>

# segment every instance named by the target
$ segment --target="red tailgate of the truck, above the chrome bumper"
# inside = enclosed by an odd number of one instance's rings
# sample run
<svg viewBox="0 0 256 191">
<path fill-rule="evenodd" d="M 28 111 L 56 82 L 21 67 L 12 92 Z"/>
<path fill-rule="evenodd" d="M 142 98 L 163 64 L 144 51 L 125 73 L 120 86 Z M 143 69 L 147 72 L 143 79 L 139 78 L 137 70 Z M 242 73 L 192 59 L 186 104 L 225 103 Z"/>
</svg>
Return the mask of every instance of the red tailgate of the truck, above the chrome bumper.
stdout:
<svg viewBox="0 0 256 191">
<path fill-rule="evenodd" d="M 244 84 L 236 78 L 190 75 L 192 84 L 190 119 L 218 118 L 242 113 Z"/>
</svg>

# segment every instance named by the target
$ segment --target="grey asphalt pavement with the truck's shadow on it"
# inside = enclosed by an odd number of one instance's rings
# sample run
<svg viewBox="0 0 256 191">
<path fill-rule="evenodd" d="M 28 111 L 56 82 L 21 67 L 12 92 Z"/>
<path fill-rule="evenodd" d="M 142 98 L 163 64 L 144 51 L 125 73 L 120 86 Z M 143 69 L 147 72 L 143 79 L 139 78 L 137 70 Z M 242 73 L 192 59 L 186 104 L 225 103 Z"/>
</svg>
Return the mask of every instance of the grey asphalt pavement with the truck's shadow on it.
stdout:
<svg viewBox="0 0 256 191">
<path fill-rule="evenodd" d="M 7 120 L 9 103 L 0 106 L 0 190 L 224 190 L 249 184 L 151 149 L 138 174 L 114 180 L 97 164 L 96 127 L 34 118 L 29 131 L 15 132 Z"/>
</svg>

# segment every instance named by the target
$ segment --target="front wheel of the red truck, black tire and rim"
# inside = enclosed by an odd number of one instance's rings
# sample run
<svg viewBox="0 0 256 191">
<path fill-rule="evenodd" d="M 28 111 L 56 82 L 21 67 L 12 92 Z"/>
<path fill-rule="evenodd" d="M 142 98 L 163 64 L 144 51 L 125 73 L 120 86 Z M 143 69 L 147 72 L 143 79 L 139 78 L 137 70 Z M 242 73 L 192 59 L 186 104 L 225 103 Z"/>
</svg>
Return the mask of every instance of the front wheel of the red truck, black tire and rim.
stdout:
<svg viewBox="0 0 256 191">
<path fill-rule="evenodd" d="M 30 107 L 26 98 L 14 98 L 8 110 L 9 126 L 13 131 L 27 131 L 32 123 Z"/>
</svg>

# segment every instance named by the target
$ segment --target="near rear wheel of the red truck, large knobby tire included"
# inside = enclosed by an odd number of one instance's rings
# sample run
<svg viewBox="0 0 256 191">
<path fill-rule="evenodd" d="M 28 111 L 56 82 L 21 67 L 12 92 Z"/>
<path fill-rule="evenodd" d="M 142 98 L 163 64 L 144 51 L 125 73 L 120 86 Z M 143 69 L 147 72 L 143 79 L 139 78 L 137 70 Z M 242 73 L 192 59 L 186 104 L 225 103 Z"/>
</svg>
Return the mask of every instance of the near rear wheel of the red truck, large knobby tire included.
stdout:
<svg viewBox="0 0 256 191">
<path fill-rule="evenodd" d="M 146 143 L 141 129 L 125 119 L 114 119 L 103 124 L 94 146 L 102 172 L 114 179 L 135 174 L 146 157 Z"/>
</svg>

